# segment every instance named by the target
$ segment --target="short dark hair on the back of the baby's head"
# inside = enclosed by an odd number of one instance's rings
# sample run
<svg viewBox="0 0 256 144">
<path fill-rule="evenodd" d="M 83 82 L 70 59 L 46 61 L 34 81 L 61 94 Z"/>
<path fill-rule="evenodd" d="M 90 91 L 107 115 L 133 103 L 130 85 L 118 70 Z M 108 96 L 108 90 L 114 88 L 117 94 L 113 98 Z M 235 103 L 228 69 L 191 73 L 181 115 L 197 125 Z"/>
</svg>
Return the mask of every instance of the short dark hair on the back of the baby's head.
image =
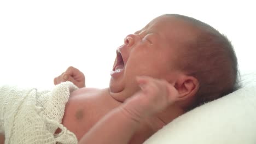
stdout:
<svg viewBox="0 0 256 144">
<path fill-rule="evenodd" d="M 194 109 L 208 101 L 234 92 L 238 85 L 238 66 L 234 48 L 225 35 L 204 22 L 192 17 L 170 14 L 195 28 L 195 39 L 184 44 L 182 62 L 178 67 L 199 81 L 199 91 L 193 103 Z"/>
</svg>

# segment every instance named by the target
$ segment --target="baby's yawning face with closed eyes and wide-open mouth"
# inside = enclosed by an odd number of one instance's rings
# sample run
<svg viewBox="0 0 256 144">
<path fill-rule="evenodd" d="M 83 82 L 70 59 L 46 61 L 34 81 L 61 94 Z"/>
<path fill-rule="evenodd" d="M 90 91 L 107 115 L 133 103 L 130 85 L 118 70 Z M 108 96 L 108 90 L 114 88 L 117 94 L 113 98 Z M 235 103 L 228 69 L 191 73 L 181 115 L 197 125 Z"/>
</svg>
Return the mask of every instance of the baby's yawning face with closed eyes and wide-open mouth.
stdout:
<svg viewBox="0 0 256 144">
<path fill-rule="evenodd" d="M 181 73 L 175 68 L 182 41 L 181 22 L 160 16 L 118 47 L 109 83 L 110 94 L 118 101 L 131 97 L 139 87 L 136 76 L 147 75 L 172 82 Z M 180 59 L 180 58 L 179 58 Z"/>
</svg>

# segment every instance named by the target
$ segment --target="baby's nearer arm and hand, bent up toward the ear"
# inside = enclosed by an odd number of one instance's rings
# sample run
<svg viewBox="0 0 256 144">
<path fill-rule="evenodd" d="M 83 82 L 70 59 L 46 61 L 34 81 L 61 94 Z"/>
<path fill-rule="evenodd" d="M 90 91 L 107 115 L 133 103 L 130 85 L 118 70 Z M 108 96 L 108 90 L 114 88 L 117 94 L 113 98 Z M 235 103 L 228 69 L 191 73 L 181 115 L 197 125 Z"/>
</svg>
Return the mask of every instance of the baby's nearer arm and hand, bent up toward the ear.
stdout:
<svg viewBox="0 0 256 144">
<path fill-rule="evenodd" d="M 141 91 L 102 118 L 79 143 L 129 143 L 144 118 L 174 103 L 178 92 L 168 82 L 139 77 Z"/>
</svg>

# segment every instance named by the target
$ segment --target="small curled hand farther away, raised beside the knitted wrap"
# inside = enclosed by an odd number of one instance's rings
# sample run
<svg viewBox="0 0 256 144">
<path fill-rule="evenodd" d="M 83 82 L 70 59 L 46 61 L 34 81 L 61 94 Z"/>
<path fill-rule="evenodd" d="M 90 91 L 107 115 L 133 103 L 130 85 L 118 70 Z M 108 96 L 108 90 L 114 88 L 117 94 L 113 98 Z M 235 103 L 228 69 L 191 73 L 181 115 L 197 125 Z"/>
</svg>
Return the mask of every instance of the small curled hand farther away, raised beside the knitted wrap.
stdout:
<svg viewBox="0 0 256 144">
<path fill-rule="evenodd" d="M 82 88 L 85 87 L 85 76 L 84 74 L 74 67 L 68 67 L 68 69 L 61 75 L 55 77 L 54 85 L 57 85 L 61 82 L 71 81 L 75 86 Z"/>
</svg>

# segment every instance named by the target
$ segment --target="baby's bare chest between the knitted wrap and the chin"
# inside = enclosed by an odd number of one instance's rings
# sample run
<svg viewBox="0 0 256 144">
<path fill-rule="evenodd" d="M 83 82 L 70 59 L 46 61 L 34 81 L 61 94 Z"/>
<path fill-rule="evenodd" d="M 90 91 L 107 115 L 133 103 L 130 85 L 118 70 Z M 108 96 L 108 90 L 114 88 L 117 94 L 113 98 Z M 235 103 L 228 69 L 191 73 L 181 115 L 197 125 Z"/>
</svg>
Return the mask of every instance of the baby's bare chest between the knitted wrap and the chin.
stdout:
<svg viewBox="0 0 256 144">
<path fill-rule="evenodd" d="M 108 89 L 78 89 L 70 95 L 62 124 L 80 140 L 99 119 L 120 104 L 109 95 Z"/>
</svg>

